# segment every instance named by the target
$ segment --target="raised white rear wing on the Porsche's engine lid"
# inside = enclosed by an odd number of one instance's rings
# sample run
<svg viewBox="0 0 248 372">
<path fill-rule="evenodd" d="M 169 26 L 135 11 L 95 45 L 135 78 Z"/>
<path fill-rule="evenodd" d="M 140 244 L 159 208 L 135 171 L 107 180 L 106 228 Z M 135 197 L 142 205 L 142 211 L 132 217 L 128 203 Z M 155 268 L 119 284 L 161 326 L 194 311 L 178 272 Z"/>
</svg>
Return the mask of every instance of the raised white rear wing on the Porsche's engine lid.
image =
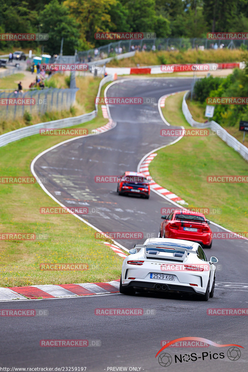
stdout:
<svg viewBox="0 0 248 372">
<path fill-rule="evenodd" d="M 153 260 L 169 260 L 169 261 L 183 262 L 184 259 L 186 259 L 186 257 L 188 256 L 188 253 L 196 254 L 196 251 L 193 251 L 191 249 L 173 247 L 173 246 L 166 247 L 160 244 L 145 244 L 145 245 L 136 244 L 135 248 L 138 251 L 141 248 L 144 248 L 145 258 L 153 259 Z M 176 255 L 170 256 L 167 253 L 175 253 Z"/>
</svg>

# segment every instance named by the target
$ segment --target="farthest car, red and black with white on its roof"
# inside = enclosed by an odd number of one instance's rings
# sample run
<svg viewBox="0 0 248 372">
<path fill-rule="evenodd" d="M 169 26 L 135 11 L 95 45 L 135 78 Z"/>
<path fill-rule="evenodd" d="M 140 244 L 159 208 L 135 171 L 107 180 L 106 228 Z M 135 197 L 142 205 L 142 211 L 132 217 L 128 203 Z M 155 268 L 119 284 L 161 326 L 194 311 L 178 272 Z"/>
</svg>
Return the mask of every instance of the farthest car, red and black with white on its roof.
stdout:
<svg viewBox="0 0 248 372">
<path fill-rule="evenodd" d="M 145 174 L 138 172 L 125 172 L 117 185 L 119 195 L 141 195 L 149 199 L 150 185 Z"/>
</svg>

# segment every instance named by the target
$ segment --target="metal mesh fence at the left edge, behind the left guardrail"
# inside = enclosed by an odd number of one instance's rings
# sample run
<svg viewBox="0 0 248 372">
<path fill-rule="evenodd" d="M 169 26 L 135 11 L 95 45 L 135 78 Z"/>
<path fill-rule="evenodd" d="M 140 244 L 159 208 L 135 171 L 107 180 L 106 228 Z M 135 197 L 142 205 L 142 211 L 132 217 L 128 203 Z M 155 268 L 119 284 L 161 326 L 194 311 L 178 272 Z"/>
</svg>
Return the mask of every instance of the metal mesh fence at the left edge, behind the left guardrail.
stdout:
<svg viewBox="0 0 248 372">
<path fill-rule="evenodd" d="M 24 113 L 42 115 L 45 112 L 69 110 L 75 102 L 74 89 L 29 89 L 23 93 L 13 90 L 0 90 L 0 120 L 13 120 L 23 117 Z"/>
</svg>

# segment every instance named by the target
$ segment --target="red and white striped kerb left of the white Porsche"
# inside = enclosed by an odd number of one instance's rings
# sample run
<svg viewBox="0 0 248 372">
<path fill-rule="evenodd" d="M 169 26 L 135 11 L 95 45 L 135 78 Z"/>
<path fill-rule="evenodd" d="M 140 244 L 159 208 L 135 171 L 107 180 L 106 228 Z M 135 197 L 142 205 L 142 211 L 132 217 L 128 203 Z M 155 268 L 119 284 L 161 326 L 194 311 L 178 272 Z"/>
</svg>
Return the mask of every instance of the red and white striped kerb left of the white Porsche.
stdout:
<svg viewBox="0 0 248 372">
<path fill-rule="evenodd" d="M 0 301 L 46 299 L 58 297 L 80 297 L 119 292 L 120 282 L 80 284 L 44 284 L 29 287 L 0 288 Z"/>
</svg>

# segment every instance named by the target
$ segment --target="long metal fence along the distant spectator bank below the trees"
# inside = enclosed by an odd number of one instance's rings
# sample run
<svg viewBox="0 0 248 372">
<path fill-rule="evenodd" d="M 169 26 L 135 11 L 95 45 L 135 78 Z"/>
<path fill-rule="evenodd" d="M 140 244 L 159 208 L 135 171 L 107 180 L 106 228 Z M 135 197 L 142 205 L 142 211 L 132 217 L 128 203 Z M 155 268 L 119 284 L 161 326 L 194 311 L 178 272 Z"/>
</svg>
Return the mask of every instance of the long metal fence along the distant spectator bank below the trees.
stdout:
<svg viewBox="0 0 248 372">
<path fill-rule="evenodd" d="M 216 44 L 216 46 L 215 46 Z M 95 56 L 94 50 L 80 51 L 77 55 L 77 60 L 80 62 L 91 62 L 102 60 L 107 57 L 115 57 L 120 54 L 125 54 L 132 51 L 173 51 L 173 50 L 187 50 L 187 49 L 214 49 L 219 48 L 240 48 L 241 45 L 248 48 L 248 40 L 217 40 L 204 38 L 155 38 L 142 40 L 120 40 L 97 47 L 98 53 Z"/>
</svg>

